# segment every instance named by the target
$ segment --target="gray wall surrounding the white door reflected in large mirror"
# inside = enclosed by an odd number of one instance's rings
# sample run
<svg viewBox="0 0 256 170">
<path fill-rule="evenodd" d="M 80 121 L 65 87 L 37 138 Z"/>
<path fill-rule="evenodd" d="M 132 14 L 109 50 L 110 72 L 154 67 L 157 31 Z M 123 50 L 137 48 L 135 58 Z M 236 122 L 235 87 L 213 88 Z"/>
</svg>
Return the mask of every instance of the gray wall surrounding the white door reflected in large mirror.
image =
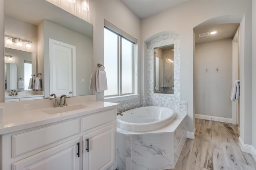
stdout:
<svg viewBox="0 0 256 170">
<path fill-rule="evenodd" d="M 76 95 L 89 95 L 92 74 L 92 38 L 44 20 L 44 93 L 50 95 L 49 38 L 76 46 Z M 81 82 L 81 79 L 84 82 Z"/>
</svg>

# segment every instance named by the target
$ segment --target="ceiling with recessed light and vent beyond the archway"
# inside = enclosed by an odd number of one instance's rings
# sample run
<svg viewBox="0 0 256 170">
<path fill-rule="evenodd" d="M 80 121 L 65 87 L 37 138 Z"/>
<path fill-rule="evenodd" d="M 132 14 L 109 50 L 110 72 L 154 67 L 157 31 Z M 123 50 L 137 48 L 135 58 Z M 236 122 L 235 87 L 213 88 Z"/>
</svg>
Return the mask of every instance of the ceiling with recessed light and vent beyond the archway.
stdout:
<svg viewBox="0 0 256 170">
<path fill-rule="evenodd" d="M 204 42 L 210 42 L 215 40 L 221 40 L 225 38 L 232 38 L 234 37 L 234 34 L 236 33 L 236 30 L 238 28 L 239 24 L 218 24 L 218 25 L 208 25 L 205 26 L 204 24 L 200 24 L 194 28 L 195 32 L 195 43 L 204 43 Z M 216 34 L 209 35 L 206 37 L 199 37 L 199 34 L 205 33 L 205 32 L 212 32 L 217 31 Z"/>
</svg>

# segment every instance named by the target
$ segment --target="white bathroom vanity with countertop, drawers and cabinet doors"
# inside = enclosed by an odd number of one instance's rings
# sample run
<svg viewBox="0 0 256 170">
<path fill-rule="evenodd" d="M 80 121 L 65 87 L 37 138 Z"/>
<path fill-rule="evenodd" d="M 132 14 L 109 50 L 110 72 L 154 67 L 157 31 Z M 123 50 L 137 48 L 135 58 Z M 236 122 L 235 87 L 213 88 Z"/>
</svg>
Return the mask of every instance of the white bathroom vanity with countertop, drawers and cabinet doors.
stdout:
<svg viewBox="0 0 256 170">
<path fill-rule="evenodd" d="M 115 169 L 119 104 L 92 99 L 57 108 L 49 99 L 0 103 L 0 170 Z"/>
</svg>

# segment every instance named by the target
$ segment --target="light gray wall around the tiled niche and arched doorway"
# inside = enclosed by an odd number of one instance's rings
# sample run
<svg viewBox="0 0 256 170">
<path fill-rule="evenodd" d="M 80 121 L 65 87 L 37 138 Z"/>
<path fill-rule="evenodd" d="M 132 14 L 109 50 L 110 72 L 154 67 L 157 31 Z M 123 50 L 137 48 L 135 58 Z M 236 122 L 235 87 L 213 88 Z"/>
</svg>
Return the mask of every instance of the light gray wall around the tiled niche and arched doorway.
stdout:
<svg viewBox="0 0 256 170">
<path fill-rule="evenodd" d="M 214 9 L 209 10 L 210 6 Z M 232 6 L 232 8 L 230 8 Z M 216 18 L 215 24 L 240 23 L 241 29 L 241 100 L 240 136 L 244 143 L 252 143 L 252 1 L 188 1 L 141 21 L 142 42 L 166 31 L 180 33 L 180 100 L 188 102 L 188 131 L 194 131 L 193 105 L 193 28 Z M 189 18 L 193 18 L 189 20 Z M 220 17 L 221 16 L 221 17 Z M 219 17 L 219 18 L 217 18 Z M 244 19 L 242 19 L 244 18 Z M 242 19 L 242 20 L 241 20 Z M 142 43 L 142 49 L 144 43 Z M 142 51 L 146 58 L 146 50 Z M 145 65 L 146 67 L 146 65 Z M 146 87 L 144 86 L 146 91 Z"/>
</svg>

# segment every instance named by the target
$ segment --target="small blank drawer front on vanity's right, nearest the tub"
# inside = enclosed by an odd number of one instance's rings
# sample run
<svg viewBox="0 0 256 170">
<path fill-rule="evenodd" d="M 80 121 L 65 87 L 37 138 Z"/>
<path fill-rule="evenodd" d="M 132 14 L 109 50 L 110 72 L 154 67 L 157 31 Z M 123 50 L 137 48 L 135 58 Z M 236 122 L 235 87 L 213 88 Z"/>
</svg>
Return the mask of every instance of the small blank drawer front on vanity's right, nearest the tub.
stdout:
<svg viewBox="0 0 256 170">
<path fill-rule="evenodd" d="M 115 120 L 115 110 L 86 115 L 82 118 L 83 132 Z"/>
</svg>

